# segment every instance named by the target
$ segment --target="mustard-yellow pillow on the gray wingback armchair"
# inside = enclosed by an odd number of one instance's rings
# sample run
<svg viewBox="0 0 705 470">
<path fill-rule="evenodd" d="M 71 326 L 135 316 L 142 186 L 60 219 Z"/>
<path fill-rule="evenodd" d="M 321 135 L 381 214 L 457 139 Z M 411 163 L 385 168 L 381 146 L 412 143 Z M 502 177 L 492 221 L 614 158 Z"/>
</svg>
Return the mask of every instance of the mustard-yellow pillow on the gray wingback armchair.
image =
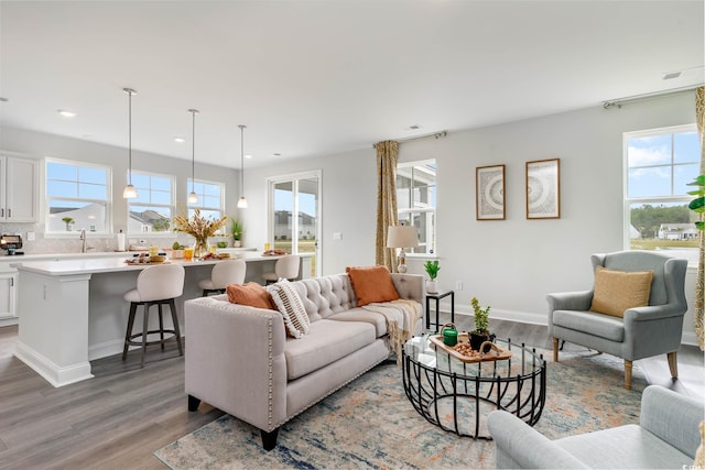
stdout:
<svg viewBox="0 0 705 470">
<path fill-rule="evenodd" d="M 649 305 L 653 271 L 595 270 L 595 294 L 590 311 L 623 317 L 625 310 Z"/>
</svg>

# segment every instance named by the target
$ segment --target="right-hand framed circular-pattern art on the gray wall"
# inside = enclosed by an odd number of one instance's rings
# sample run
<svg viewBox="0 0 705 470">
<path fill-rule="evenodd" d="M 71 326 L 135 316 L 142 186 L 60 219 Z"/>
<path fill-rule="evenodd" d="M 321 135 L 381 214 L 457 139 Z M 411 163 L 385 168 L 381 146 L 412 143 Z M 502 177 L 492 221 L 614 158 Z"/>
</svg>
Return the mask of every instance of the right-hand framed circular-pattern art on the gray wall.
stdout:
<svg viewBox="0 0 705 470">
<path fill-rule="evenodd" d="M 561 218 L 560 159 L 527 162 L 527 219 Z"/>
</svg>

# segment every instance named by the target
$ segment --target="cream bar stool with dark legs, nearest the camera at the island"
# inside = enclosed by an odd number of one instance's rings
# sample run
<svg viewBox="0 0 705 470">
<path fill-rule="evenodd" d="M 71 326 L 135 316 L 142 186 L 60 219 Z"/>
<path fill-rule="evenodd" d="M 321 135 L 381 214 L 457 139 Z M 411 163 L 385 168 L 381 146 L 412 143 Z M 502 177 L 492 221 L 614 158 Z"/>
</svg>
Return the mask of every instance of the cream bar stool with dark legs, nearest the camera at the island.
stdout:
<svg viewBox="0 0 705 470">
<path fill-rule="evenodd" d="M 130 346 L 142 347 L 142 361 L 140 368 L 144 367 L 144 356 L 148 345 L 161 345 L 162 350 L 167 341 L 176 341 L 178 345 L 178 356 L 184 356 L 184 349 L 181 343 L 181 330 L 178 328 L 178 315 L 176 315 L 176 306 L 174 298 L 180 297 L 184 293 L 184 266 L 181 264 L 160 264 L 145 267 L 137 276 L 137 288 L 124 293 L 124 299 L 130 303 L 130 317 L 128 319 L 128 330 L 124 335 L 124 348 L 122 349 L 122 360 L 128 358 L 128 348 Z M 134 315 L 138 305 L 144 305 L 144 321 L 142 331 L 133 334 Z M 149 329 L 150 307 L 156 305 L 159 308 L 159 329 Z M 162 317 L 162 305 L 169 305 L 172 313 L 173 329 L 164 329 L 164 319 Z M 149 335 L 159 334 L 160 339 L 148 341 Z M 169 338 L 164 338 L 164 334 L 171 334 Z M 135 338 L 141 338 L 135 341 Z"/>
</svg>

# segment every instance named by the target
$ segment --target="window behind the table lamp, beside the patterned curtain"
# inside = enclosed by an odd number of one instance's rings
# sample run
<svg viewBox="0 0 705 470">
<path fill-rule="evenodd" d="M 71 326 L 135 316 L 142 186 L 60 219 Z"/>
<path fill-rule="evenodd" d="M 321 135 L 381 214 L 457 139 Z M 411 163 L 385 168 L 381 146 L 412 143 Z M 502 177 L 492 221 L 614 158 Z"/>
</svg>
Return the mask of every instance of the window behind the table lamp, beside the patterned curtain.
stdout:
<svg viewBox="0 0 705 470">
<path fill-rule="evenodd" d="M 399 222 L 413 225 L 419 233 L 414 253 L 436 252 L 436 161 L 397 165 Z"/>
</svg>

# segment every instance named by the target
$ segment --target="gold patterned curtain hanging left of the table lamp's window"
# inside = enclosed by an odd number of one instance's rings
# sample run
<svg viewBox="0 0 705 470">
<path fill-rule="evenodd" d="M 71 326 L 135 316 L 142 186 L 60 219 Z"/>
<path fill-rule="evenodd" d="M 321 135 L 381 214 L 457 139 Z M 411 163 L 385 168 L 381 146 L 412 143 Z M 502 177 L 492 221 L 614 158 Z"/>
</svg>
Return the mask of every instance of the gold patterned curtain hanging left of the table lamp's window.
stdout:
<svg viewBox="0 0 705 470">
<path fill-rule="evenodd" d="M 399 161 L 399 143 L 383 141 L 375 145 L 377 149 L 377 238 L 375 262 L 389 267 L 393 272 L 397 266 L 397 253 L 387 248 L 389 226 L 399 222 L 397 214 L 397 162 Z"/>
</svg>

